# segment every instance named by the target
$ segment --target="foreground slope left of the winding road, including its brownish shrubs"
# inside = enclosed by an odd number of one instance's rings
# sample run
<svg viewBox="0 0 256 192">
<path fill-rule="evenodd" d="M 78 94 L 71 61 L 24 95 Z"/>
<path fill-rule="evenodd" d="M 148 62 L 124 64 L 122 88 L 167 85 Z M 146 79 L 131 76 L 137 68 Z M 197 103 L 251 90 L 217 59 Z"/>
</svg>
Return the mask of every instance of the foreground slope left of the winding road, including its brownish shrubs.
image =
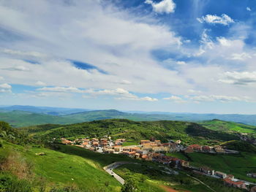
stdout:
<svg viewBox="0 0 256 192">
<path fill-rule="evenodd" d="M 38 153 L 45 155 L 36 155 Z M 82 158 L 44 147 L 22 147 L 8 142 L 4 142 L 0 157 L 1 169 L 4 170 L 1 172 L 2 188 L 15 185 L 13 183 L 29 183 L 28 186 L 31 186 L 33 191 L 39 188 L 50 191 L 52 188 L 65 188 L 67 185 L 83 191 L 121 189 L 121 185 L 107 174 L 99 163 L 91 161 L 90 157 Z M 11 179 L 8 175 L 11 175 Z"/>
</svg>

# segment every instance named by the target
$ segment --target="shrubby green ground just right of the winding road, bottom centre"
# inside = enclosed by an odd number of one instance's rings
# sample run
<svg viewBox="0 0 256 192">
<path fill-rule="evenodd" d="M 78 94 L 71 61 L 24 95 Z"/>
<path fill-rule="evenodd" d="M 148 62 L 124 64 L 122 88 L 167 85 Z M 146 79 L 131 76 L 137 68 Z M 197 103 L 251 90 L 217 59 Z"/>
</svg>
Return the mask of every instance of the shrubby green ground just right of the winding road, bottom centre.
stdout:
<svg viewBox="0 0 256 192">
<path fill-rule="evenodd" d="M 161 172 L 162 167 L 157 164 L 125 164 L 114 169 L 121 177 L 132 177 L 138 181 L 138 189 L 141 191 L 163 192 L 161 186 L 168 186 L 177 191 L 205 192 L 205 186 L 187 177 L 186 174 L 169 175 Z"/>
</svg>

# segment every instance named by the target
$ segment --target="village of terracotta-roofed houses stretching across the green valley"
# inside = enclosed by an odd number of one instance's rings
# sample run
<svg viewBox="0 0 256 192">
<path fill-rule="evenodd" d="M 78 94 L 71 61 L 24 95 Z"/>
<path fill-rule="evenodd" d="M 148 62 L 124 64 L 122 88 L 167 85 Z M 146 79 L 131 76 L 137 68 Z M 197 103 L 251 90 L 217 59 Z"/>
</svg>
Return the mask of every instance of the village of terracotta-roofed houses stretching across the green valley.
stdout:
<svg viewBox="0 0 256 192">
<path fill-rule="evenodd" d="M 183 145 L 181 145 L 181 140 L 177 140 L 176 142 L 170 141 L 167 143 L 162 143 L 160 140 L 156 140 L 154 138 L 148 140 L 141 140 L 140 145 L 123 146 L 125 142 L 126 139 L 116 139 L 115 141 L 113 141 L 111 137 L 102 139 L 75 139 L 74 141 L 61 138 L 61 143 L 64 145 L 75 145 L 77 147 L 83 147 L 98 153 L 122 154 L 127 155 L 130 158 L 138 158 L 144 161 L 158 162 L 160 164 L 165 164 L 176 169 L 187 170 L 194 172 L 195 174 L 202 174 L 208 177 L 222 179 L 224 184 L 230 187 L 241 188 L 249 191 L 249 185 L 253 184 L 244 180 L 238 180 L 232 174 L 215 171 L 214 169 L 210 169 L 207 166 L 191 166 L 189 164 L 189 161 L 184 161 L 176 157 L 165 155 L 165 153 L 181 151 L 183 151 L 184 153 L 239 153 L 236 150 L 228 150 L 222 148 L 219 145 L 210 147 L 195 144 L 184 147 Z M 254 176 L 254 174 L 250 175 L 250 177 Z M 256 187 L 251 188 L 251 191 L 256 192 Z"/>
</svg>

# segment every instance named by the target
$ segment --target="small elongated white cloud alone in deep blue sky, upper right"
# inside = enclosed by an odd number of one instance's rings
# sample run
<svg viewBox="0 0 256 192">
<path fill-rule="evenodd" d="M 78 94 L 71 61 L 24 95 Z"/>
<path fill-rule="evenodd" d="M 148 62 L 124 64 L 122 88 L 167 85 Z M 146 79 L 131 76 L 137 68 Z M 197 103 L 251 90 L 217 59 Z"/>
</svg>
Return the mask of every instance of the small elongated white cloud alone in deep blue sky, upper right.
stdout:
<svg viewBox="0 0 256 192">
<path fill-rule="evenodd" d="M 230 23 L 235 23 L 235 21 L 226 14 L 222 14 L 222 16 L 206 15 L 202 18 L 197 18 L 197 20 L 200 23 L 222 24 L 224 26 L 227 26 Z"/>
</svg>

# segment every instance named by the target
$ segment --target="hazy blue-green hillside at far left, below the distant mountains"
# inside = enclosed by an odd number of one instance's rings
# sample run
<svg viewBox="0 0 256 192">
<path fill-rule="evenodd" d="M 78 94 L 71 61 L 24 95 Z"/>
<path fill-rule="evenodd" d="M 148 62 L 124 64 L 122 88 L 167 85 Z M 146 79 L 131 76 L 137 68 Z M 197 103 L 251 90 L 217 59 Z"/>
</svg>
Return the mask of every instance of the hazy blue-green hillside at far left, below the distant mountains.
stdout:
<svg viewBox="0 0 256 192">
<path fill-rule="evenodd" d="M 0 120 L 10 123 L 13 127 L 33 126 L 44 123 L 68 124 L 78 122 L 69 118 L 24 111 L 0 112 Z"/>
</svg>

